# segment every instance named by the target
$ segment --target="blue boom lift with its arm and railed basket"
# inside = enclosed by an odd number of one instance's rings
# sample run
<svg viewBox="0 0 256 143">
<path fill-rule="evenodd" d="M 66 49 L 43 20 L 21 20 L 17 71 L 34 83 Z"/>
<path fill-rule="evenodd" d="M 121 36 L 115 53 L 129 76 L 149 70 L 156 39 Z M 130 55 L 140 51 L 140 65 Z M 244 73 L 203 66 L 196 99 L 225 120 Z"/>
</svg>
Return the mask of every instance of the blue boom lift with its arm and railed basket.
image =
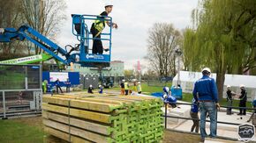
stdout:
<svg viewBox="0 0 256 143">
<path fill-rule="evenodd" d="M 96 15 L 79 15 L 72 14 L 72 33 L 78 39 L 79 43 L 75 46 L 67 45 L 65 48 L 56 45 L 55 42 L 43 36 L 40 32 L 36 32 L 29 25 L 22 25 L 19 29 L 15 28 L 0 28 L 0 42 L 11 42 L 14 39 L 27 39 L 39 46 L 56 60 L 63 62 L 65 65 L 78 63 L 82 67 L 103 68 L 109 67 L 111 57 L 111 33 L 112 27 L 109 27 L 109 32 L 103 32 L 101 40 L 107 41 L 109 44 L 108 54 L 92 54 L 90 41 L 97 39 L 92 37 L 92 33 L 88 30 L 89 21 L 96 19 L 109 21 L 112 25 L 111 17 L 99 17 Z"/>
</svg>

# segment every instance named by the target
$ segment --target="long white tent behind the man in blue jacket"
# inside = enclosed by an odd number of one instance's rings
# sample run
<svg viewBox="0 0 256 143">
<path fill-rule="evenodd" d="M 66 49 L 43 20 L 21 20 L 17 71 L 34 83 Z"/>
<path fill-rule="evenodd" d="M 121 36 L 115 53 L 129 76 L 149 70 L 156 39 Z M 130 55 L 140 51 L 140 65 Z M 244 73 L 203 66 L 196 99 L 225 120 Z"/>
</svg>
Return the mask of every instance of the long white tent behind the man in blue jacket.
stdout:
<svg viewBox="0 0 256 143">
<path fill-rule="evenodd" d="M 183 92 L 192 93 L 194 82 L 202 77 L 200 72 L 180 71 L 180 82 Z M 216 74 L 211 74 L 211 77 L 215 78 Z M 227 85 L 231 86 L 231 89 L 237 94 L 240 93 L 239 85 L 244 84 L 247 91 L 247 97 L 249 101 L 256 99 L 256 76 L 252 75 L 225 75 L 223 96 L 226 97 Z M 177 75 L 172 81 L 172 85 L 177 85 Z"/>
</svg>

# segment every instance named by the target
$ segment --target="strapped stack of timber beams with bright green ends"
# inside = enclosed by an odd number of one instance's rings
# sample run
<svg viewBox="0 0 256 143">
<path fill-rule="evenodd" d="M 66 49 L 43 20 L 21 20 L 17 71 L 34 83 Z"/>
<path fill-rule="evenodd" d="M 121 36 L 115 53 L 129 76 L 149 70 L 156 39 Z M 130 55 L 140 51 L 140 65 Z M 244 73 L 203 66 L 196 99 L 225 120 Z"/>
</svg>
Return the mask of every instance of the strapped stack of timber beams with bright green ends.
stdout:
<svg viewBox="0 0 256 143">
<path fill-rule="evenodd" d="M 43 97 L 45 131 L 70 142 L 159 142 L 162 101 L 135 96 Z"/>
</svg>

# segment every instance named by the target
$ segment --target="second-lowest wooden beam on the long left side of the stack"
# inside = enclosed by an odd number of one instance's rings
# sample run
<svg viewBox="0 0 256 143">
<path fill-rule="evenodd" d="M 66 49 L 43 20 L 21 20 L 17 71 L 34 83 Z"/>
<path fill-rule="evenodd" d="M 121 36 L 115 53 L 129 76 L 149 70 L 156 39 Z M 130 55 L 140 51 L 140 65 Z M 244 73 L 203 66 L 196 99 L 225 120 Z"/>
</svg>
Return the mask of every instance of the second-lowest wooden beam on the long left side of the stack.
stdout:
<svg viewBox="0 0 256 143">
<path fill-rule="evenodd" d="M 103 136 L 94 132 L 87 132 L 85 130 L 81 130 L 79 128 L 73 127 L 73 126 L 69 126 L 69 125 L 64 125 L 52 120 L 48 120 L 48 119 L 43 119 L 43 124 L 52 128 L 55 128 L 57 130 L 63 131 L 63 132 L 67 132 L 67 133 L 71 133 L 72 135 L 76 135 L 79 136 L 81 138 L 84 139 L 88 139 L 94 142 L 109 142 L 111 139 L 107 136 Z"/>
</svg>

